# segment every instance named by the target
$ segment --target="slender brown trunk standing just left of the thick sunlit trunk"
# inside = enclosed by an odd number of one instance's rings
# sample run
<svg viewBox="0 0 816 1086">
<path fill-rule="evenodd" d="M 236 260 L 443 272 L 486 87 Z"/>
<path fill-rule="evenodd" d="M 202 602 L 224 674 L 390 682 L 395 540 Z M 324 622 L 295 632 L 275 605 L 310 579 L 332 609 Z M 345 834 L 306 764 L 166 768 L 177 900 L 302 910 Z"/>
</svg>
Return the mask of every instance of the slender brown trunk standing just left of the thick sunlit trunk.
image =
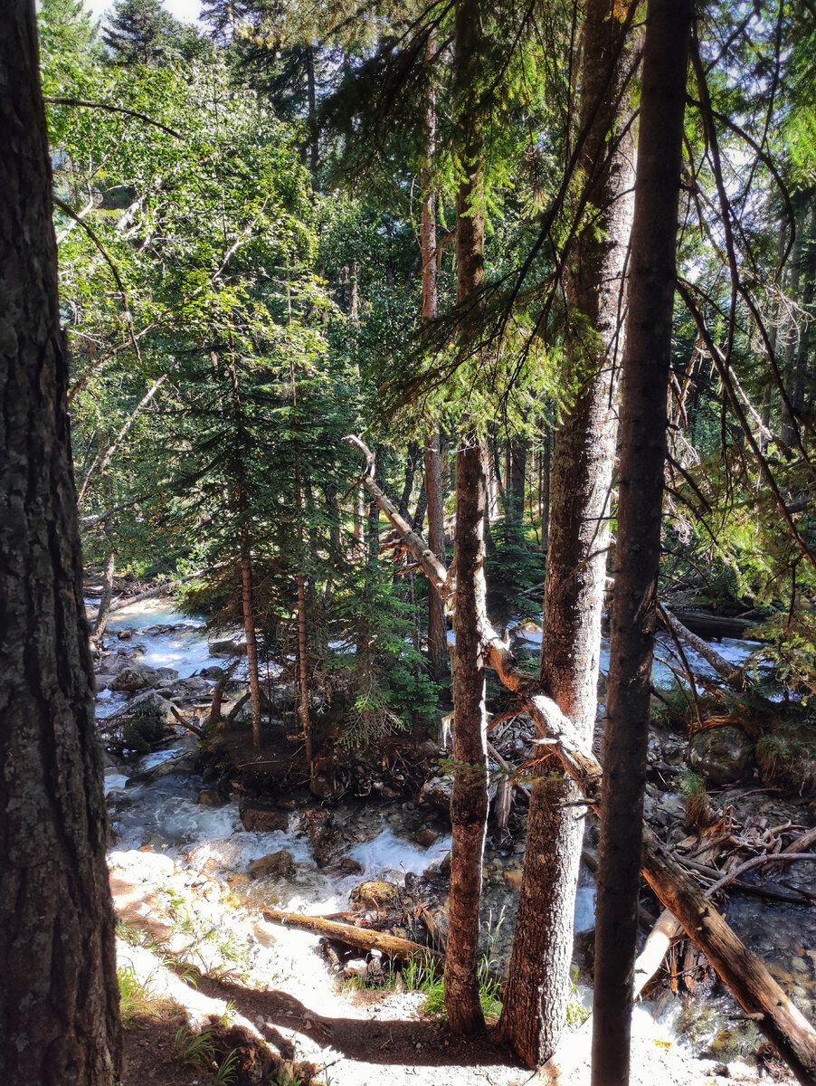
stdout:
<svg viewBox="0 0 816 1086">
<path fill-rule="evenodd" d="M 479 62 L 479 0 L 457 3 L 455 38 L 457 77 L 463 91 Z M 462 116 L 460 131 L 463 176 L 456 207 L 457 303 L 463 314 L 460 349 L 467 354 L 479 334 L 479 291 L 484 281 L 484 216 L 479 200 L 482 147 L 474 113 Z M 445 1009 L 450 1028 L 460 1035 L 484 1028 L 477 970 L 479 901 L 487 830 L 487 716 L 480 633 L 487 621 L 482 535 L 486 494 L 482 446 L 471 430 L 456 459 L 454 759 L 457 768 L 450 803 L 454 841 L 445 961 Z"/>
</svg>

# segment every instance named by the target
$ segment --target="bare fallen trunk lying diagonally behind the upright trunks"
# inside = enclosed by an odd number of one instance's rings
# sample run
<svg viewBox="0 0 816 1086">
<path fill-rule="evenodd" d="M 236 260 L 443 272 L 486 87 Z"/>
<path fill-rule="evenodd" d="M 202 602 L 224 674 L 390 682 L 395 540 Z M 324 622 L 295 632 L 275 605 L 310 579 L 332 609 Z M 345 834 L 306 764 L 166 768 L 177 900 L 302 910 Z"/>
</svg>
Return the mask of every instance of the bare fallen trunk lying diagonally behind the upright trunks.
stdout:
<svg viewBox="0 0 816 1086">
<path fill-rule="evenodd" d="M 374 455 L 359 438 L 347 439 L 366 457 L 360 483 L 443 596 L 452 591 L 451 579 L 425 541 L 411 531 L 393 503 L 374 481 Z M 407 529 L 407 531 L 405 530 Z M 564 771 L 584 793 L 587 807 L 597 812 L 601 767 L 576 733 L 570 719 L 535 675 L 522 671 L 513 654 L 485 620 L 480 630 L 486 664 L 508 690 L 519 695 L 540 738 Z M 668 848 L 643 824 L 641 871 L 665 909 L 683 925 L 703 951 L 745 1013 L 752 1019 L 803 1086 L 816 1086 L 816 1031 L 770 975 L 765 962 L 750 950 L 714 909 L 700 886 L 677 863 Z M 354 931 L 354 929 L 352 929 Z"/>
</svg>

